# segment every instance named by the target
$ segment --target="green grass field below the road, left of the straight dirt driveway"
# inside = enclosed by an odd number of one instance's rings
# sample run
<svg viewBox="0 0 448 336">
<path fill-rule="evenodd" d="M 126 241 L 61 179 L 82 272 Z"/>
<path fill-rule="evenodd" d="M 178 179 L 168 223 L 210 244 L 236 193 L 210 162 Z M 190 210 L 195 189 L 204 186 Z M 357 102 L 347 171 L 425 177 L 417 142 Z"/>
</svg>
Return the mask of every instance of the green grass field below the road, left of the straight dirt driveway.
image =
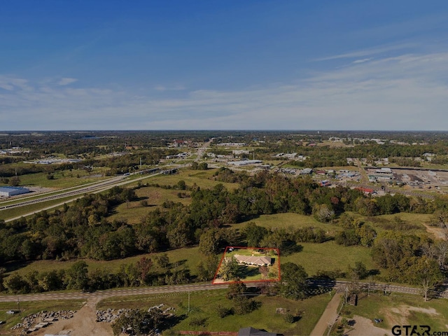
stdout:
<svg viewBox="0 0 448 336">
<path fill-rule="evenodd" d="M 146 310 L 163 303 L 165 307 L 174 307 L 176 316 L 181 318 L 181 321 L 172 328 L 173 331 L 238 331 L 240 328 L 251 326 L 269 332 L 279 332 L 283 335 L 309 335 L 331 299 L 328 294 L 310 297 L 302 301 L 287 300 L 278 296 L 258 296 L 255 297 L 255 300 L 261 302 L 259 309 L 246 315 L 230 315 L 220 318 L 216 312 L 218 305 L 232 307 L 232 302 L 225 298 L 225 293 L 226 290 L 191 292 L 190 312 L 188 312 L 188 293 L 115 297 L 99 302 L 97 309 L 138 307 Z M 283 320 L 283 314 L 276 314 L 276 308 L 286 309 L 291 314 L 302 313 L 302 318 L 295 323 L 286 323 Z M 190 325 L 195 318 L 203 318 L 204 326 Z M 171 335 L 172 332 L 167 330 L 164 335 Z"/>
</svg>

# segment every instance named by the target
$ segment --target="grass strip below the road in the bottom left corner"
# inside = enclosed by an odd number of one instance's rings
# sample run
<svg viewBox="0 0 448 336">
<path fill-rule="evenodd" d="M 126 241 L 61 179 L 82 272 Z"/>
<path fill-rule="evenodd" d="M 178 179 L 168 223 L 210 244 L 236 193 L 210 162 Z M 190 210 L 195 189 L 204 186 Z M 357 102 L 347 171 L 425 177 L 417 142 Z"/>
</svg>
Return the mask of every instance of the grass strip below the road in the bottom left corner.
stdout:
<svg viewBox="0 0 448 336">
<path fill-rule="evenodd" d="M 36 314 L 38 311 L 78 310 L 83 306 L 83 300 L 48 300 L 48 301 L 20 301 L 20 314 L 8 315 L 8 310 L 18 310 L 17 302 L 0 302 L 0 335 L 11 335 L 13 325 L 19 323 L 24 316 Z M 17 333 L 13 334 L 17 335 Z"/>
</svg>

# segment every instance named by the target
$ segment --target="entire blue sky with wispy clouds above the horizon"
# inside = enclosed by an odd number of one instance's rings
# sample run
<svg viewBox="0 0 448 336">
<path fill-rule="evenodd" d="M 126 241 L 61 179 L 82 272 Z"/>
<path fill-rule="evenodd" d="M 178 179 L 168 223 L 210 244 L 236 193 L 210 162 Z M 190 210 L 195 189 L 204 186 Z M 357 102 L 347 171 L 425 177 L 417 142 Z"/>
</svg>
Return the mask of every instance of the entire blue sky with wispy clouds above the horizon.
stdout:
<svg viewBox="0 0 448 336">
<path fill-rule="evenodd" d="M 0 130 L 448 130 L 446 1 L 2 1 Z"/>
</svg>

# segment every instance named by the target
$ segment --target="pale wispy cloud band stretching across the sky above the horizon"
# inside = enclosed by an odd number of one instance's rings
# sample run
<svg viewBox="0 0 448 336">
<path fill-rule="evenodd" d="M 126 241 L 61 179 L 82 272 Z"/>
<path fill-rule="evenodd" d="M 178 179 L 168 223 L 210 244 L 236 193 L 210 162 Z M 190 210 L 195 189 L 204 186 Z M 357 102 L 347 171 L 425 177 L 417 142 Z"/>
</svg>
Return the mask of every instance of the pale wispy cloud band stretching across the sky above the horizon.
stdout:
<svg viewBox="0 0 448 336">
<path fill-rule="evenodd" d="M 0 130 L 448 129 L 448 52 L 359 60 L 293 84 L 183 98 L 0 76 Z"/>
</svg>

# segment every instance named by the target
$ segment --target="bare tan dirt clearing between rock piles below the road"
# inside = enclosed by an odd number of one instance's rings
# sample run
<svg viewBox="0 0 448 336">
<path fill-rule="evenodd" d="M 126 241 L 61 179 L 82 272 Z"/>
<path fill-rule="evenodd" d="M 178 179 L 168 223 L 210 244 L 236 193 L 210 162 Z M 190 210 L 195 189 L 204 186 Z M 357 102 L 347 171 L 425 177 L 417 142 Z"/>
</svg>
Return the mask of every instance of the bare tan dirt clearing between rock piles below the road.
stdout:
<svg viewBox="0 0 448 336">
<path fill-rule="evenodd" d="M 31 335 L 43 336 L 45 334 L 67 334 L 70 336 L 112 336 L 113 331 L 110 323 L 97 322 L 96 305 L 99 298 L 89 299 L 79 309 L 73 318 L 69 320 L 56 321 L 48 328 L 33 332 Z"/>
</svg>

